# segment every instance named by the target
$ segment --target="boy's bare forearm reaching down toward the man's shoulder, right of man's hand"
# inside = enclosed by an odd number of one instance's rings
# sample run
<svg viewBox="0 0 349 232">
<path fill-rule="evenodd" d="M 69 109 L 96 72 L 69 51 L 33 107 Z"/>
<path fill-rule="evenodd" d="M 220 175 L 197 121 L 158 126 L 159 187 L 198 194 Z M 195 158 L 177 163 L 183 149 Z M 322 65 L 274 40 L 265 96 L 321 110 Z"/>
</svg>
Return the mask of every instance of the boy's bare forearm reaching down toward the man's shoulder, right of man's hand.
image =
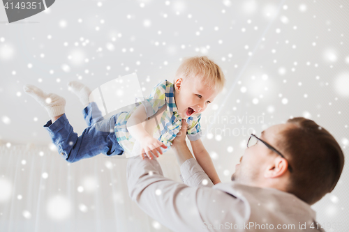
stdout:
<svg viewBox="0 0 349 232">
<path fill-rule="evenodd" d="M 191 147 L 193 148 L 196 160 L 202 169 L 204 169 L 205 173 L 207 173 L 207 176 L 212 180 L 212 183 L 214 183 L 214 185 L 221 183 L 216 169 L 214 169 L 214 163 L 212 162 L 211 157 L 209 157 L 209 153 L 205 149 L 204 144 L 202 144 L 201 139 L 191 141 Z"/>
</svg>

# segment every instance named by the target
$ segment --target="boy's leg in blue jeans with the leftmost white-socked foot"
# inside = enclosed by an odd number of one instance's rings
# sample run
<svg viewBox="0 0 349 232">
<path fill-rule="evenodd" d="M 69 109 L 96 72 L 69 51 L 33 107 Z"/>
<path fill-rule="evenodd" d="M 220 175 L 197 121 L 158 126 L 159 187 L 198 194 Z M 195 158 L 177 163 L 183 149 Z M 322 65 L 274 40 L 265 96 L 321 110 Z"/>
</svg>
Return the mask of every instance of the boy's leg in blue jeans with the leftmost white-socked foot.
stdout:
<svg viewBox="0 0 349 232">
<path fill-rule="evenodd" d="M 105 155 L 121 155 L 123 153 L 114 133 L 114 125 L 118 115 L 87 127 L 82 135 L 77 137 L 66 118 L 66 114 L 64 114 L 66 105 L 64 98 L 54 93 L 44 93 L 40 88 L 29 84 L 23 88 L 26 93 L 45 107 L 52 118 L 54 123 L 50 120 L 44 127 L 47 128 L 52 141 L 68 162 L 76 162 L 100 153 Z"/>
</svg>

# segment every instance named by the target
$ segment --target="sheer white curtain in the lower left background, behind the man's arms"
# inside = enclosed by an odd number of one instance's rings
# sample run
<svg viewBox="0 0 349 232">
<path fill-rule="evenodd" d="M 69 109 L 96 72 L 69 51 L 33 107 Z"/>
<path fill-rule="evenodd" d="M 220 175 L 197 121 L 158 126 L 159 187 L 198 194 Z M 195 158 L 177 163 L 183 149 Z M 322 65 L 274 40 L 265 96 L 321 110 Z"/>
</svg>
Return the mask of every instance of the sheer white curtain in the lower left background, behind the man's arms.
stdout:
<svg viewBox="0 0 349 232">
<path fill-rule="evenodd" d="M 181 181 L 169 151 L 159 162 Z M 69 164 L 57 150 L 0 146 L 0 231 L 171 231 L 128 196 L 123 156 Z"/>
</svg>

